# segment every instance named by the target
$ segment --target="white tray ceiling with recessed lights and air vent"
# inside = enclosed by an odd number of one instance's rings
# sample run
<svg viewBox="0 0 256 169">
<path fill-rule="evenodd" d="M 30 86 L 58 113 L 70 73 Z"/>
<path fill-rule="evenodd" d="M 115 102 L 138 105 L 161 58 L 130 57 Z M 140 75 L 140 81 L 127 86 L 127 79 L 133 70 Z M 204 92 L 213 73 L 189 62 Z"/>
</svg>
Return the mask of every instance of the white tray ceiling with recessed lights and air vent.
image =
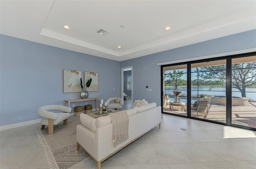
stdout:
<svg viewBox="0 0 256 169">
<path fill-rule="evenodd" d="M 255 0 L 0 0 L 0 14 L 1 34 L 117 61 L 256 29 Z"/>
</svg>

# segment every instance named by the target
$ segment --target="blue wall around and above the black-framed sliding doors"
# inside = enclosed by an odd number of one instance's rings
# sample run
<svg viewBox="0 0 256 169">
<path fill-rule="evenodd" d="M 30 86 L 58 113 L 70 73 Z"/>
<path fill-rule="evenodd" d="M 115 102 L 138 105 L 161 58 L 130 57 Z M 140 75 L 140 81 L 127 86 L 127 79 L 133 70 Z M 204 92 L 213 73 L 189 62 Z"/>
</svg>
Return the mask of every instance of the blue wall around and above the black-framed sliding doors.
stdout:
<svg viewBox="0 0 256 169">
<path fill-rule="evenodd" d="M 133 67 L 133 100 L 161 105 L 161 67 L 156 64 L 251 48 L 256 48 L 256 30 L 126 60 L 121 62 L 121 68 Z M 146 91 L 146 85 L 152 91 Z"/>
</svg>

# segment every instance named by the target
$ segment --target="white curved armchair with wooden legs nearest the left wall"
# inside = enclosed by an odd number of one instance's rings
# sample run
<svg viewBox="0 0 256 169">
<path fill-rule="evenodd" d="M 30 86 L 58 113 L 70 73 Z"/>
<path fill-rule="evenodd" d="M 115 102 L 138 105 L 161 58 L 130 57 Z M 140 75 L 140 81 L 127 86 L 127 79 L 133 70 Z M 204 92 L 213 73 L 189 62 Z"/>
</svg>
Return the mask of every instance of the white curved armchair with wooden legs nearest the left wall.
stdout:
<svg viewBox="0 0 256 169">
<path fill-rule="evenodd" d="M 66 113 L 54 113 L 49 110 L 63 111 Z M 53 134 L 53 125 L 56 125 L 63 121 L 63 124 L 68 124 L 68 118 L 70 117 L 70 107 L 63 105 L 45 105 L 37 110 L 38 115 L 41 119 L 41 129 L 44 129 L 45 125 L 48 125 L 48 134 Z"/>
</svg>

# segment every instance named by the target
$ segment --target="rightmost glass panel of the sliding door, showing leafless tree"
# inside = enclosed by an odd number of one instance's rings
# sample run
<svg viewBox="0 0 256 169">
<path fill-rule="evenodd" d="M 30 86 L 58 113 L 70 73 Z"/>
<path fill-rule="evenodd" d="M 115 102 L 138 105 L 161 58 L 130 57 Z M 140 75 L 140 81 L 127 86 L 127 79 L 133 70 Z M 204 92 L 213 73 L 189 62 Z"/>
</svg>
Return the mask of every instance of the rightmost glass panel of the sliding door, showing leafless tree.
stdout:
<svg viewBox="0 0 256 169">
<path fill-rule="evenodd" d="M 256 128 L 256 56 L 232 59 L 232 124 Z"/>
</svg>

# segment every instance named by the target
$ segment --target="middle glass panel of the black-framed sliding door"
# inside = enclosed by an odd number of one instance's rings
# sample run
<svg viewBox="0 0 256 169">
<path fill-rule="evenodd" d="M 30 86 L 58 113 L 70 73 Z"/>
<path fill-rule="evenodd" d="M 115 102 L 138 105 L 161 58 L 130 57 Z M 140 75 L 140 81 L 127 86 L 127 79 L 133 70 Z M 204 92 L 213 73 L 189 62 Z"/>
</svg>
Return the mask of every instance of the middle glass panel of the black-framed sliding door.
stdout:
<svg viewBox="0 0 256 169">
<path fill-rule="evenodd" d="M 191 117 L 226 123 L 226 60 L 191 64 Z"/>
</svg>

